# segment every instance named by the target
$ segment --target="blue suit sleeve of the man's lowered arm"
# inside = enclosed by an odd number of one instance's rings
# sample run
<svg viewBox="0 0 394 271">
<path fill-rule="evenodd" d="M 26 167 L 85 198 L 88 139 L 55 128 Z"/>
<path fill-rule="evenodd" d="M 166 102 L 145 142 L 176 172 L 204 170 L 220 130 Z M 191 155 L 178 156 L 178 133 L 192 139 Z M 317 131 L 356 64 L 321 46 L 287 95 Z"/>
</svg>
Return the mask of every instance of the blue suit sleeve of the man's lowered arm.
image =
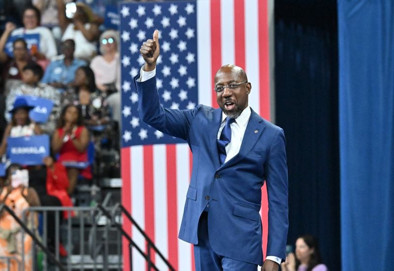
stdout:
<svg viewBox="0 0 394 271">
<path fill-rule="evenodd" d="M 288 219 L 288 175 L 285 135 L 276 132 L 267 162 L 264 165 L 268 194 L 268 244 L 267 255 L 286 258 Z"/>
</svg>

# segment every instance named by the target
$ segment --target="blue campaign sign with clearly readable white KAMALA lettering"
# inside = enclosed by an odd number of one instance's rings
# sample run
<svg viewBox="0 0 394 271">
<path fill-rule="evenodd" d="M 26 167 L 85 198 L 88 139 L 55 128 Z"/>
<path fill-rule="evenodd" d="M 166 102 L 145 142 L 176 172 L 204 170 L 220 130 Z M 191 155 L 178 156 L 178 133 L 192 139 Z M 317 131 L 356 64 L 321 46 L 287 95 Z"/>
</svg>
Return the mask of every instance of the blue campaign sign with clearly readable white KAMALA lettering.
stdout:
<svg viewBox="0 0 394 271">
<path fill-rule="evenodd" d="M 42 160 L 49 156 L 49 135 L 8 137 L 7 154 L 11 163 L 43 165 Z"/>
</svg>

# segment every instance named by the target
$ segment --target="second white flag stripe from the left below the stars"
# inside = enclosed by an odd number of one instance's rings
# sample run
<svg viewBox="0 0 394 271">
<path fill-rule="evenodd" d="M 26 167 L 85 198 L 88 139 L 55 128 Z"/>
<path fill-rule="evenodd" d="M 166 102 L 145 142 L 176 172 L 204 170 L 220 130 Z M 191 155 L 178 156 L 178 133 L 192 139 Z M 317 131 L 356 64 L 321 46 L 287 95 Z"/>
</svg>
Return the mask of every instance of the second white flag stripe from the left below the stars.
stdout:
<svg viewBox="0 0 394 271">
<path fill-rule="evenodd" d="M 160 252 L 168 259 L 168 231 L 167 231 L 167 163 L 163 159 L 166 157 L 164 144 L 153 145 L 153 197 L 155 206 L 155 245 Z M 156 267 L 165 270 L 166 265 L 159 257 L 155 257 Z"/>
</svg>

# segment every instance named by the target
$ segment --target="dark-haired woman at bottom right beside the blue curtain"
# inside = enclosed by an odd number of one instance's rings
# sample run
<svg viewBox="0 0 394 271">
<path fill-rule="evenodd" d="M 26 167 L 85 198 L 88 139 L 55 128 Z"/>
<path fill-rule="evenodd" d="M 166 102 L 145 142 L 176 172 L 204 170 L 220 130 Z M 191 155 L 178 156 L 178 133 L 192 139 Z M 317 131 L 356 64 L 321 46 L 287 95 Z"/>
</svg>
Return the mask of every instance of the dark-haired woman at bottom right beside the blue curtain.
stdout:
<svg viewBox="0 0 394 271">
<path fill-rule="evenodd" d="M 303 235 L 296 240 L 296 256 L 289 253 L 282 271 L 328 271 L 322 264 L 318 241 L 311 235 Z"/>
</svg>

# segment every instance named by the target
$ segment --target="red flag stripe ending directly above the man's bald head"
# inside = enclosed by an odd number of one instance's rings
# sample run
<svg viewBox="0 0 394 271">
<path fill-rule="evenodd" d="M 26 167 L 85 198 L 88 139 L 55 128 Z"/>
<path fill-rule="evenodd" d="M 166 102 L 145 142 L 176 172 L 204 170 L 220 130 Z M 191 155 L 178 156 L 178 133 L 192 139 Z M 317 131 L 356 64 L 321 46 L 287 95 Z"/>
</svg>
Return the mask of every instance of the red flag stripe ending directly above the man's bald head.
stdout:
<svg viewBox="0 0 394 271">
<path fill-rule="evenodd" d="M 245 69 L 245 4 L 234 0 L 235 65 Z"/>
</svg>

